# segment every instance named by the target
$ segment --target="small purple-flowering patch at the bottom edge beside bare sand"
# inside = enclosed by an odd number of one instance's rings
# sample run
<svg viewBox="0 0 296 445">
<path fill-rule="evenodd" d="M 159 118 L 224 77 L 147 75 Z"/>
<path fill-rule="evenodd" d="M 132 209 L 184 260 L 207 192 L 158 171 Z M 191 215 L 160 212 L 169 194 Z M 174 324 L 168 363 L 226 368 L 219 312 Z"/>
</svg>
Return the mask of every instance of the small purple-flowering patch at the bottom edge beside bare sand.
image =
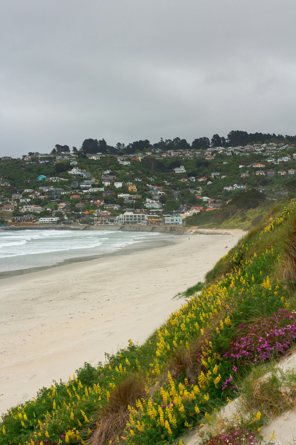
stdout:
<svg viewBox="0 0 296 445">
<path fill-rule="evenodd" d="M 252 433 L 242 427 L 232 426 L 225 433 L 217 434 L 206 442 L 206 445 L 256 445 L 258 440 L 255 433 Z"/>
</svg>

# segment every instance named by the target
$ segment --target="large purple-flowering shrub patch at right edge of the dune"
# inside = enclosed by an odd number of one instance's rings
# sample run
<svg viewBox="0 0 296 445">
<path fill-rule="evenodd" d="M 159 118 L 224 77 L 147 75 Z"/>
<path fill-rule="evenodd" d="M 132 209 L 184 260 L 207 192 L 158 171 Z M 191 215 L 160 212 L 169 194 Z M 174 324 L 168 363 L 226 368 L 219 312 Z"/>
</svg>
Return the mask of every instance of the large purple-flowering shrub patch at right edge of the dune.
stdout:
<svg viewBox="0 0 296 445">
<path fill-rule="evenodd" d="M 249 326 L 246 336 L 231 341 L 224 357 L 238 360 L 240 365 L 262 362 L 283 354 L 295 339 L 296 313 L 279 309 L 269 320 Z"/>
</svg>

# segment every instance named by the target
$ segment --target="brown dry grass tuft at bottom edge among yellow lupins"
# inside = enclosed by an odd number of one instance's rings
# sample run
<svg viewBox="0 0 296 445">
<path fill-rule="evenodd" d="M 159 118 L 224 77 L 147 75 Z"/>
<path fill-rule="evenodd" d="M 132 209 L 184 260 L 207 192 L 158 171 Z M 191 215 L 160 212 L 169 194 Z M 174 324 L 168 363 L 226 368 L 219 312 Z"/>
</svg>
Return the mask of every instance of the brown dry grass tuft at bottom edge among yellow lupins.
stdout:
<svg viewBox="0 0 296 445">
<path fill-rule="evenodd" d="M 126 422 L 129 420 L 130 407 L 135 407 L 136 401 L 145 396 L 145 388 L 136 376 L 122 380 L 110 396 L 109 403 L 103 408 L 98 419 L 99 425 L 94 436 L 88 442 L 90 445 L 123 444 L 122 438 Z"/>
</svg>

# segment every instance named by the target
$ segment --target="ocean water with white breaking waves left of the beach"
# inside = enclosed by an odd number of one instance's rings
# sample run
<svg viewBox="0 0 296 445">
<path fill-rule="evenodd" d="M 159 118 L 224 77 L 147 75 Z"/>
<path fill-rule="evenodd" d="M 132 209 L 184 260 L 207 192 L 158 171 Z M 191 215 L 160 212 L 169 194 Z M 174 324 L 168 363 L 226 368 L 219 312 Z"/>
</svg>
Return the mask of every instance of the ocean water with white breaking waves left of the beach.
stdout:
<svg viewBox="0 0 296 445">
<path fill-rule="evenodd" d="M 162 237 L 150 232 L 0 231 L 0 273 L 48 267 L 65 260 L 109 254 L 128 244 Z"/>
</svg>

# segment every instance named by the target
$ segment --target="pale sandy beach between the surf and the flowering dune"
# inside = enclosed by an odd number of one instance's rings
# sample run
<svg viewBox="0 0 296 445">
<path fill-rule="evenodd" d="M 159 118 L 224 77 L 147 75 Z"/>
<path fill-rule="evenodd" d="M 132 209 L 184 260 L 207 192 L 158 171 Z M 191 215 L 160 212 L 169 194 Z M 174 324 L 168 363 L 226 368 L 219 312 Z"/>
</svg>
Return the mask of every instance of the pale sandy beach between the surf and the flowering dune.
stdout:
<svg viewBox="0 0 296 445">
<path fill-rule="evenodd" d="M 203 280 L 245 233 L 231 232 L 0 280 L 0 413 L 130 338 L 146 340 L 182 305 L 173 296 Z"/>
</svg>

